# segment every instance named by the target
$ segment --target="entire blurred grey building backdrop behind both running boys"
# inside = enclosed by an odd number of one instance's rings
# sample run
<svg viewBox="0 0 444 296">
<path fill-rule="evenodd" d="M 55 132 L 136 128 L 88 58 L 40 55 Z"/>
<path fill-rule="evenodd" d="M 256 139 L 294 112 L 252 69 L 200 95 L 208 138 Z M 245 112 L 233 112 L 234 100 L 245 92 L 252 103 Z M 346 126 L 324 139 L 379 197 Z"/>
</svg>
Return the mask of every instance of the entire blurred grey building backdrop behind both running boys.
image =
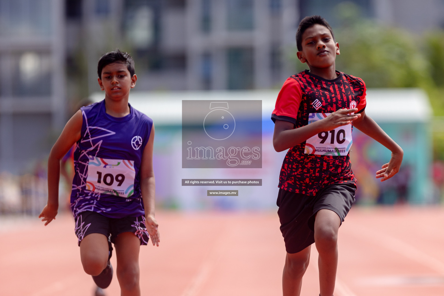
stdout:
<svg viewBox="0 0 444 296">
<path fill-rule="evenodd" d="M 139 91 L 279 88 L 299 20 L 334 28 L 350 3 L 416 32 L 444 24 L 442 0 L 0 0 L 0 171 L 48 153 L 105 52 L 132 53 Z"/>
</svg>

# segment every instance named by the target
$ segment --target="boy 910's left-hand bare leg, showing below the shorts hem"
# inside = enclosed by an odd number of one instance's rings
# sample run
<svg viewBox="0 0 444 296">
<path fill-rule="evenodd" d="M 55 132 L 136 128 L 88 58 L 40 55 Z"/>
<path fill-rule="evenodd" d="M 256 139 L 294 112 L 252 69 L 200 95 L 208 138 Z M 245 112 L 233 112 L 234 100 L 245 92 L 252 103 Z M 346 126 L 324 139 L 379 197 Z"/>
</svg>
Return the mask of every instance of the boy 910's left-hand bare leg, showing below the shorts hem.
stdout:
<svg viewBox="0 0 444 296">
<path fill-rule="evenodd" d="M 301 294 L 302 276 L 307 270 L 310 260 L 311 246 L 294 254 L 287 253 L 284 272 L 282 273 L 282 293 L 284 296 Z"/>
</svg>

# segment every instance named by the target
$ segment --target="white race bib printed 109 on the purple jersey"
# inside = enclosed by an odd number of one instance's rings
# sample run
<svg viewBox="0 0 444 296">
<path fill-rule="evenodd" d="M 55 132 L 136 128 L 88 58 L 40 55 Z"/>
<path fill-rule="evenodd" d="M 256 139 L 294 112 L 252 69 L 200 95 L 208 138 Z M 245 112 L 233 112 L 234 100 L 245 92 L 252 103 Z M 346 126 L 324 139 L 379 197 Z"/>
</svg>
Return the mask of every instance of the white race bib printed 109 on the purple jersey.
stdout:
<svg viewBox="0 0 444 296">
<path fill-rule="evenodd" d="M 134 160 L 88 157 L 86 190 L 125 198 L 134 193 Z"/>
</svg>

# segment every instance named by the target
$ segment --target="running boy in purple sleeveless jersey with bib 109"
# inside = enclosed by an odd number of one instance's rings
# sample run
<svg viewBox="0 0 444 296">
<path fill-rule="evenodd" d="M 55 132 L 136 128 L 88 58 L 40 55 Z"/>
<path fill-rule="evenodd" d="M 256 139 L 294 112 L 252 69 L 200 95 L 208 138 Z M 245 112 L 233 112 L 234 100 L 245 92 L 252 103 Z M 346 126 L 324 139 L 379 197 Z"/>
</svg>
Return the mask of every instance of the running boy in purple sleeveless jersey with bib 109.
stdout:
<svg viewBox="0 0 444 296">
<path fill-rule="evenodd" d="M 82 107 L 67 122 L 48 159 L 45 226 L 56 219 L 60 159 L 76 143 L 71 209 L 83 269 L 100 288 L 111 283 L 111 242 L 121 295 L 140 295 L 139 248 L 159 246 L 152 165 L 154 125 L 128 104 L 135 87 L 134 61 L 116 50 L 103 55 L 98 81 L 105 99 Z M 96 291 L 99 294 L 99 291 Z"/>
</svg>

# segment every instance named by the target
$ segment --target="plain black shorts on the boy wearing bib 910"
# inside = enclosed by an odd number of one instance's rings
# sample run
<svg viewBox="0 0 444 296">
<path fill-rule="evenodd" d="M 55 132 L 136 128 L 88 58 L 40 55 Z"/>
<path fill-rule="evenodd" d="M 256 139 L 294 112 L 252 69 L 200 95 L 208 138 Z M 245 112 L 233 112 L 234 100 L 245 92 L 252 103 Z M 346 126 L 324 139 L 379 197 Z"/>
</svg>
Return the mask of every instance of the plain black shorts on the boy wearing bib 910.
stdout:
<svg viewBox="0 0 444 296">
<path fill-rule="evenodd" d="M 356 187 L 341 183 L 327 185 L 316 196 L 279 189 L 277 215 L 287 253 L 297 253 L 314 243 L 314 217 L 323 209 L 336 212 L 341 224 L 355 202 Z"/>
</svg>

